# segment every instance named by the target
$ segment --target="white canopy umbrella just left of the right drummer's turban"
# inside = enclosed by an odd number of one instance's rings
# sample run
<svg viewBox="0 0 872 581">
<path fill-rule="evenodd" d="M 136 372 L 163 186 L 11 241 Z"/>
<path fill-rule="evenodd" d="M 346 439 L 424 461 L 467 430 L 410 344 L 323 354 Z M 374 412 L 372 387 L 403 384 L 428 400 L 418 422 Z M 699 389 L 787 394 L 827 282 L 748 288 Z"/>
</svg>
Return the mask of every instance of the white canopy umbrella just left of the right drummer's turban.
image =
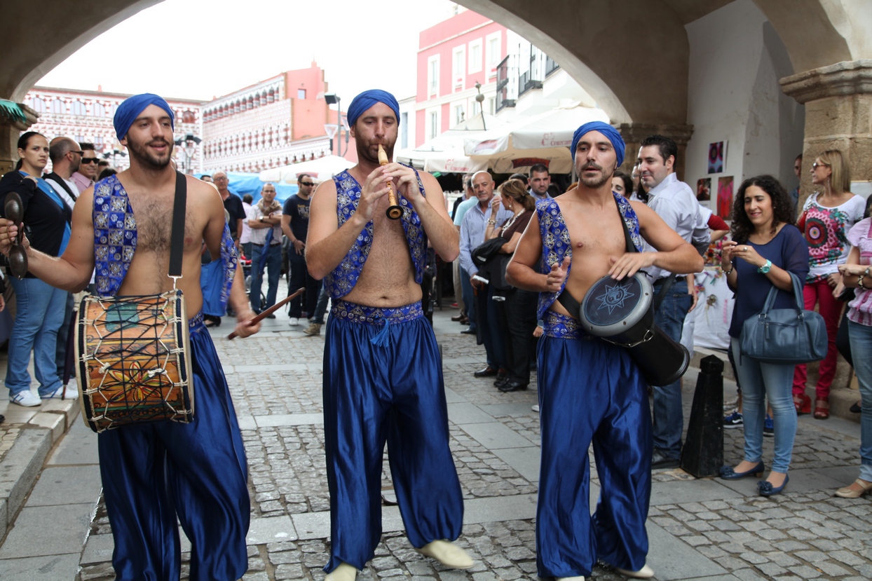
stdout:
<svg viewBox="0 0 872 581">
<path fill-rule="evenodd" d="M 572 134 L 589 121 L 608 123 L 609 116 L 585 106 L 556 108 L 471 136 L 464 141 L 464 153 L 473 160 L 486 160 L 498 174 L 523 171 L 535 163 L 544 163 L 552 174 L 569 174 Z"/>
</svg>

